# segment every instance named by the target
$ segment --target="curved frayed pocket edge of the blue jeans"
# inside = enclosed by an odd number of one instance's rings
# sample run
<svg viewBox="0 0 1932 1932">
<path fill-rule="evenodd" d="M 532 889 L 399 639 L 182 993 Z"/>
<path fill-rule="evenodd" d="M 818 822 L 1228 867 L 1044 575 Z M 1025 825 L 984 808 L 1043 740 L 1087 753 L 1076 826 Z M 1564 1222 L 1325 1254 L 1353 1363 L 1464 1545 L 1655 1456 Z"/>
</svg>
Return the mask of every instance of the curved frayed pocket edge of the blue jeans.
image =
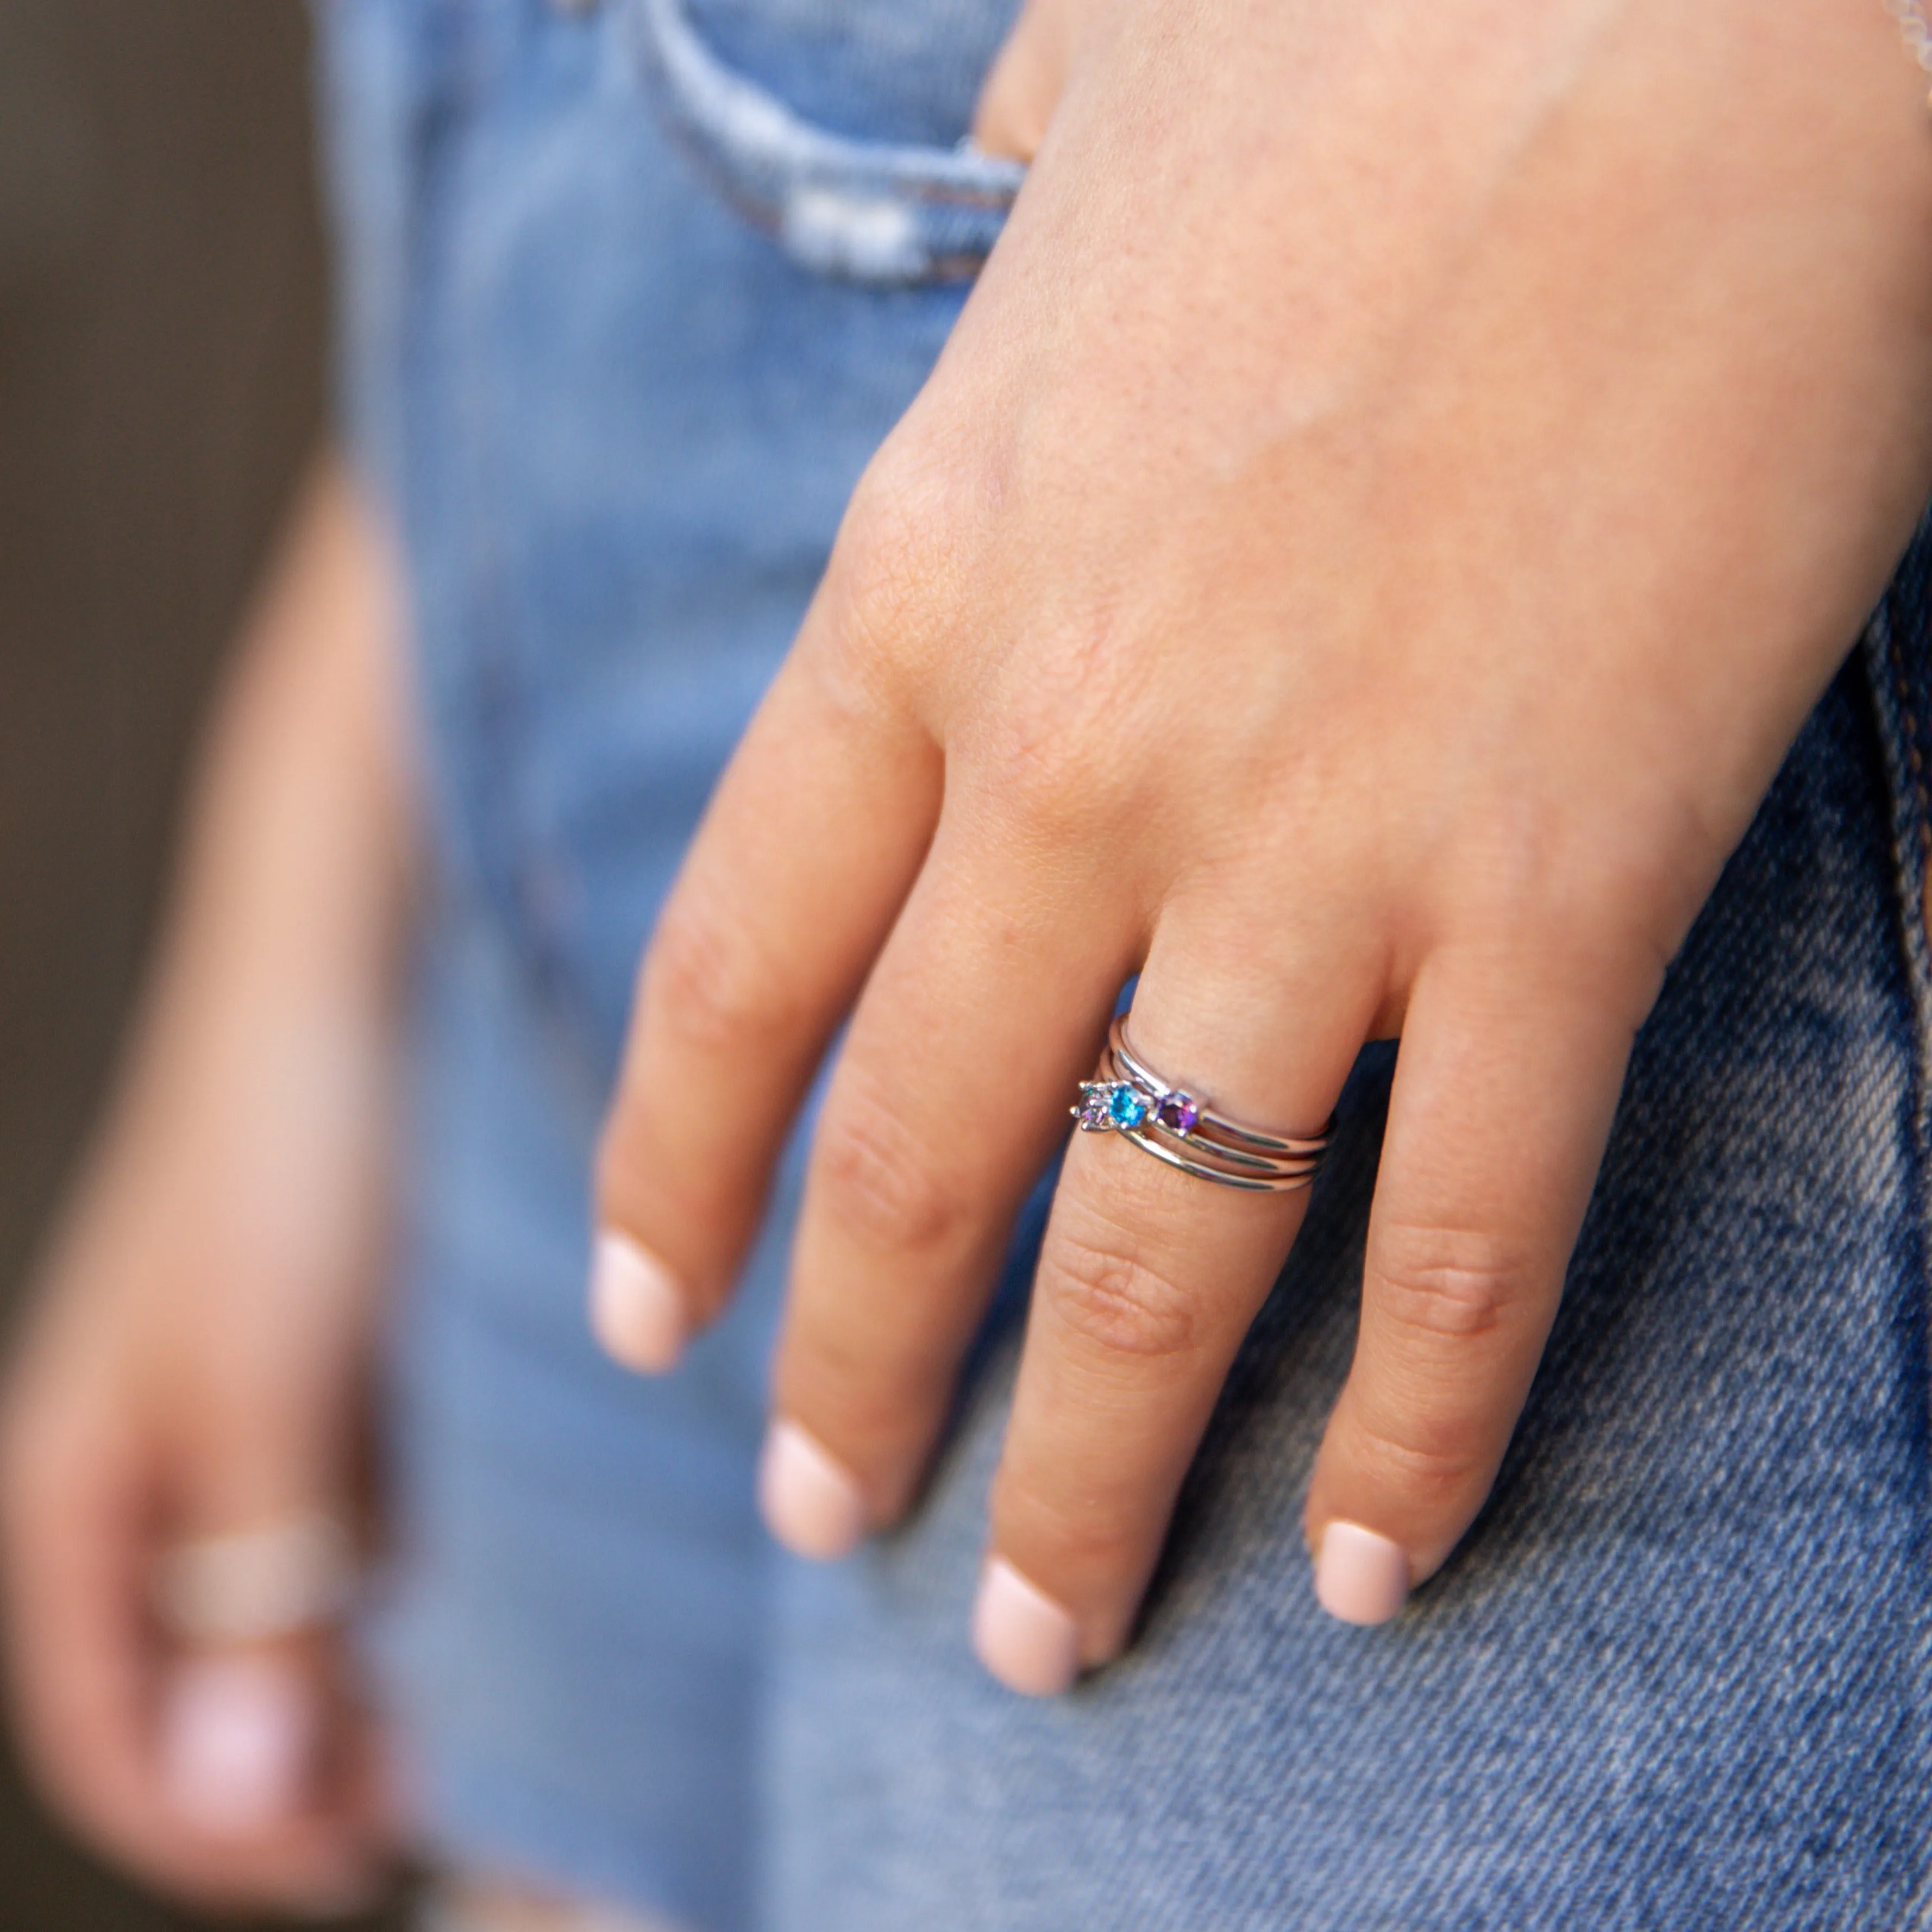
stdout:
<svg viewBox="0 0 1932 1932">
<path fill-rule="evenodd" d="M 927 147 L 821 128 L 705 43 L 688 0 L 626 0 L 634 58 L 721 193 L 792 261 L 881 286 L 974 276 L 1026 170 L 970 143 Z"/>
</svg>

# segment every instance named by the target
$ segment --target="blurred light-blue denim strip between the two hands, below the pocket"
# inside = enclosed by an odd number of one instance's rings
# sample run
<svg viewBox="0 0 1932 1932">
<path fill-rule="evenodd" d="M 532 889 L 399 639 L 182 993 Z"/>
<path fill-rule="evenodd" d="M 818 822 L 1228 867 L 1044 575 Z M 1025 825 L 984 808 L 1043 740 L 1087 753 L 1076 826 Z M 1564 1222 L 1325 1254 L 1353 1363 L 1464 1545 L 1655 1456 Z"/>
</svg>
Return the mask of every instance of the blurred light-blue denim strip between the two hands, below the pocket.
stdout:
<svg viewBox="0 0 1932 1932">
<path fill-rule="evenodd" d="M 937 39 L 918 12 L 676 19 L 726 99 L 788 102 L 802 182 L 923 234 L 931 184 L 985 172 L 956 143 L 1009 6 L 952 0 Z M 796 1180 L 736 1314 L 639 1381 L 583 1320 L 591 1151 L 657 904 L 952 327 L 956 265 L 800 267 L 798 222 L 734 197 L 736 151 L 694 145 L 709 97 L 667 100 L 641 0 L 327 0 L 317 23 L 344 419 L 402 537 L 439 873 L 377 1658 L 444 1853 L 730 1932 Z"/>
</svg>

